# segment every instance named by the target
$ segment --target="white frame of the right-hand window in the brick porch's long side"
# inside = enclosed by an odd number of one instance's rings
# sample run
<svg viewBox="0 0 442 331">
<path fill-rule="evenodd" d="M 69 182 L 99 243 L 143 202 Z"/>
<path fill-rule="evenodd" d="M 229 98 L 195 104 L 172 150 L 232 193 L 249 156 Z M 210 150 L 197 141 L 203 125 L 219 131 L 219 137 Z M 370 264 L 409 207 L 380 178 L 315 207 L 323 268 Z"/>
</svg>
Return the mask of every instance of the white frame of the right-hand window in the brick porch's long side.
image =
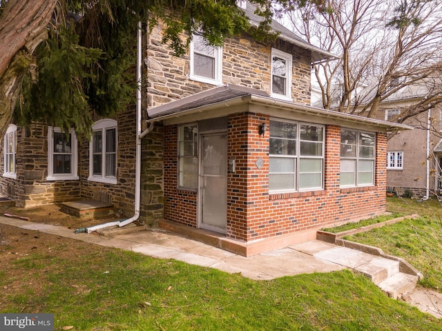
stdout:
<svg viewBox="0 0 442 331">
<path fill-rule="evenodd" d="M 344 130 L 355 132 L 356 133 L 356 142 L 355 143 L 343 143 L 342 140 L 342 132 Z M 367 147 L 367 146 L 361 146 L 359 143 L 359 138 L 361 134 L 374 134 L 374 145 L 373 145 L 373 156 L 372 157 L 361 157 L 360 156 L 360 150 L 361 147 Z M 348 146 L 348 147 L 347 147 Z M 345 148 L 349 148 L 350 150 L 354 150 L 354 156 L 345 156 L 343 157 L 343 150 Z M 340 183 L 340 188 L 362 188 L 362 187 L 368 187 L 368 186 L 374 186 L 375 183 L 375 177 L 376 177 L 376 133 L 375 132 L 367 132 L 367 131 L 359 131 L 359 130 L 353 130 L 348 128 L 342 128 L 341 129 L 341 139 L 340 139 L 340 163 L 341 163 L 341 169 L 340 169 L 340 177 L 342 176 L 343 170 L 342 170 L 342 161 L 354 161 L 355 162 L 355 169 L 354 169 L 354 183 L 343 185 Z M 359 174 L 362 172 L 361 168 L 363 168 L 363 162 L 371 161 L 372 162 L 372 182 L 371 183 L 358 183 L 359 181 Z M 341 179 L 341 178 L 340 178 Z"/>
</svg>

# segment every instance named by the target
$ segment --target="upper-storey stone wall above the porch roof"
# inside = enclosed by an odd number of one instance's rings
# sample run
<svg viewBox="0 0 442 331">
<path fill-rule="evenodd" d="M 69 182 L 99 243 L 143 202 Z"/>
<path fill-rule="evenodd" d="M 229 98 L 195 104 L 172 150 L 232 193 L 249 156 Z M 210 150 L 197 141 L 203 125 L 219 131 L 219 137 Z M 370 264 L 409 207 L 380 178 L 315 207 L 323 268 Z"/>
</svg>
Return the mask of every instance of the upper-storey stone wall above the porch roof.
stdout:
<svg viewBox="0 0 442 331">
<path fill-rule="evenodd" d="M 144 59 L 148 70 L 146 91 L 149 107 L 161 106 L 216 87 L 189 79 L 189 54 L 175 57 L 161 40 L 162 31 L 158 25 L 147 35 Z M 270 94 L 271 48 L 270 44 L 257 43 L 247 36 L 226 39 L 222 48 L 222 83 L 264 90 Z M 309 105 L 310 52 L 279 39 L 273 48 L 293 55 L 292 97 L 296 103 Z"/>
</svg>

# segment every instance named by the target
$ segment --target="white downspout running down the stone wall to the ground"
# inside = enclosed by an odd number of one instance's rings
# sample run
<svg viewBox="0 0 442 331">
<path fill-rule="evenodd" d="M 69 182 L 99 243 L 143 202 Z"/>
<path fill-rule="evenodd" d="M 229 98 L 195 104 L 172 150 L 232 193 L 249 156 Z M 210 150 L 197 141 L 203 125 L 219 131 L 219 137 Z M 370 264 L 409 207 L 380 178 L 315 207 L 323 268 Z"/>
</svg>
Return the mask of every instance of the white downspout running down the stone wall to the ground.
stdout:
<svg viewBox="0 0 442 331">
<path fill-rule="evenodd" d="M 125 219 L 124 221 L 113 221 L 104 224 L 99 224 L 86 228 L 86 232 L 90 233 L 95 230 L 109 228 L 114 225 L 118 225 L 120 228 L 124 225 L 136 221 L 140 217 L 140 195 L 141 195 L 141 139 L 153 130 L 153 123 L 150 123 L 149 127 L 141 132 L 142 122 L 142 24 L 138 22 L 137 29 L 137 128 L 136 128 L 136 146 L 135 146 L 135 212 L 133 217 Z M 79 229 L 78 229 L 79 230 Z M 76 231 L 77 232 L 77 231 Z M 82 231 L 78 231 L 82 232 Z"/>
</svg>

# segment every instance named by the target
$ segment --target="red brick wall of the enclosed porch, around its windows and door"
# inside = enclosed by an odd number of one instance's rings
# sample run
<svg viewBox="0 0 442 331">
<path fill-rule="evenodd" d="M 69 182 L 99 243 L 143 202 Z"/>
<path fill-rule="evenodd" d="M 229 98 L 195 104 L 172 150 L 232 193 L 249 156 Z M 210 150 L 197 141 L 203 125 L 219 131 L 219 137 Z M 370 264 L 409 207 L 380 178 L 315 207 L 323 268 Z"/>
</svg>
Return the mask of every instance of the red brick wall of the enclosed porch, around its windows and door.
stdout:
<svg viewBox="0 0 442 331">
<path fill-rule="evenodd" d="M 340 127 L 327 126 L 324 190 L 269 195 L 269 130 L 264 137 L 258 134 L 263 122 L 269 128 L 267 115 L 229 116 L 228 153 L 229 160 L 236 160 L 236 172 L 228 176 L 227 237 L 265 239 L 385 212 L 385 134 L 377 134 L 374 186 L 339 188 Z M 195 227 L 197 194 L 177 190 L 177 128 L 166 128 L 165 137 L 164 216 Z"/>
</svg>

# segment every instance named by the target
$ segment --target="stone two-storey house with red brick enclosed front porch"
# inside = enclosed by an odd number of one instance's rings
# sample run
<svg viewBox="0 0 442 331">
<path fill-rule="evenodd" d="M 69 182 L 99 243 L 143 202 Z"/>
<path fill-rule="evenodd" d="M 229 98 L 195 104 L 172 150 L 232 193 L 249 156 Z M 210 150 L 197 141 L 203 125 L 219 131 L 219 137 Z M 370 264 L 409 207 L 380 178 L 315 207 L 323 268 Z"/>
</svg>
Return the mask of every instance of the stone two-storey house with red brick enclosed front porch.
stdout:
<svg viewBox="0 0 442 331">
<path fill-rule="evenodd" d="M 407 126 L 309 106 L 311 63 L 333 55 L 273 29 L 271 45 L 244 35 L 215 48 L 197 34 L 177 58 L 156 26 L 143 51 L 148 127 L 139 103 L 97 118 L 90 142 L 11 126 L 2 193 L 23 207 L 109 201 L 247 256 L 382 214 L 387 132 Z"/>
</svg>

